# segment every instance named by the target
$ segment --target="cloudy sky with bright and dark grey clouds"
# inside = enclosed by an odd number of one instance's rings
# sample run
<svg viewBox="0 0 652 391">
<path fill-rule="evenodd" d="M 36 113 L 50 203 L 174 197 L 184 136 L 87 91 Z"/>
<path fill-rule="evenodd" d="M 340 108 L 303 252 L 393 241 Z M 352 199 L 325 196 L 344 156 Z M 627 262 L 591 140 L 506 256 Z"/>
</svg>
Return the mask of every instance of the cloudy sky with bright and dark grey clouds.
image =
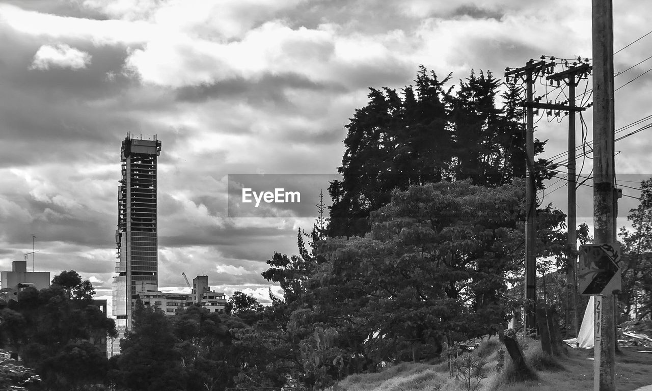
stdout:
<svg viewBox="0 0 652 391">
<path fill-rule="evenodd" d="M 616 50 L 649 32 L 648 3 L 615 1 Z M 296 230 L 312 218 L 230 218 L 229 174 L 336 173 L 344 125 L 366 103 L 366 88 L 408 85 L 419 65 L 457 80 L 471 68 L 502 76 L 541 55 L 591 57 L 590 7 L 0 0 L 0 268 L 31 251 L 34 234 L 37 270 L 78 270 L 110 295 L 121 139 L 158 135 L 160 287 L 183 289 L 181 272 L 208 274 L 220 291 L 265 301 L 265 260 L 295 252 Z M 651 52 L 652 35 L 617 53 L 615 70 Z M 617 76 L 616 87 L 650 67 Z M 617 128 L 650 113 L 651 81 L 652 72 L 617 91 Z M 584 117 L 590 139 L 590 111 Z M 565 151 L 565 121 L 537 126 L 537 137 L 550 139 L 547 156 Z M 649 132 L 617 143 L 619 173 L 639 174 L 621 177 L 629 186 L 649 176 Z M 565 209 L 565 187 L 550 191 L 540 197 Z M 590 192 L 580 216 L 591 214 Z M 626 201 L 621 210 L 636 203 Z"/>
</svg>

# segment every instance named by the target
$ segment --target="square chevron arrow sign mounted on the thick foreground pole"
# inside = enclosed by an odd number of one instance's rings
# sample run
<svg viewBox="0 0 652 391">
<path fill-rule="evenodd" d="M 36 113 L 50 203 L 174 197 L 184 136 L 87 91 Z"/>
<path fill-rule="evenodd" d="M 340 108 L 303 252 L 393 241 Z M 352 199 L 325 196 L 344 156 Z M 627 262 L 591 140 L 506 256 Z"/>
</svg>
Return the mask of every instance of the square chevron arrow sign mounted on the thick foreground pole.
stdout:
<svg viewBox="0 0 652 391">
<path fill-rule="evenodd" d="M 582 244 L 578 279 L 582 295 L 612 295 L 621 290 L 620 245 Z"/>
</svg>

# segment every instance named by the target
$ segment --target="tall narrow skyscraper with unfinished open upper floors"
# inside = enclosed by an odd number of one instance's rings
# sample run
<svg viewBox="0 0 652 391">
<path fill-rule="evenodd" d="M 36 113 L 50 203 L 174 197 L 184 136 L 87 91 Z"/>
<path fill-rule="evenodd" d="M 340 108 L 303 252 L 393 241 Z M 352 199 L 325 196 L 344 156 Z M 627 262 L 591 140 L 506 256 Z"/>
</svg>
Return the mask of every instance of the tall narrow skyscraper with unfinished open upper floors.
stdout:
<svg viewBox="0 0 652 391">
<path fill-rule="evenodd" d="M 161 142 L 132 139 L 122 142 L 122 179 L 118 186 L 117 259 L 113 277 L 113 315 L 119 336 L 108 355 L 119 353 L 119 341 L 131 328 L 136 284 L 158 289 L 156 158 Z"/>
</svg>

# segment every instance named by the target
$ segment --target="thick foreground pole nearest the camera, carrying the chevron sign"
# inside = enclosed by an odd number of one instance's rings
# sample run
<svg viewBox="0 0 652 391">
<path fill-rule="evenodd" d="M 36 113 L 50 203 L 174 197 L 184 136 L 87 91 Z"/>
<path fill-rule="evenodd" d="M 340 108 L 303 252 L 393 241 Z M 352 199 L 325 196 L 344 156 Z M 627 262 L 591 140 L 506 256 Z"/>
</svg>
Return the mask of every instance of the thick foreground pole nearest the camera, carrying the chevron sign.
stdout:
<svg viewBox="0 0 652 391">
<path fill-rule="evenodd" d="M 593 0 L 593 237 L 615 243 L 614 22 L 612 0 Z M 596 330 L 593 390 L 615 391 L 614 295 L 605 293 Z M 596 315 L 599 315 L 596 313 Z"/>
</svg>

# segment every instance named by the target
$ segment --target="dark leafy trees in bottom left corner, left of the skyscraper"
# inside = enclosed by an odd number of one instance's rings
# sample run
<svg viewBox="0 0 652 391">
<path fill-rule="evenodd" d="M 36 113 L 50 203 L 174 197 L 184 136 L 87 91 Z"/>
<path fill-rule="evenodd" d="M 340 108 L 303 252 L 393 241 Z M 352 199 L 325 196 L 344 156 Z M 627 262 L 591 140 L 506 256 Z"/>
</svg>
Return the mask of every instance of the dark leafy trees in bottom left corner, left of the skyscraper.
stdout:
<svg viewBox="0 0 652 391">
<path fill-rule="evenodd" d="M 115 323 L 92 305 L 94 289 L 85 287 L 76 272 L 63 272 L 53 281 L 47 289 L 23 290 L 18 302 L 0 311 L 0 343 L 22 356 L 48 390 L 102 384 L 107 359 L 97 342 L 116 335 Z M 76 293 L 79 287 L 83 293 Z"/>
</svg>

